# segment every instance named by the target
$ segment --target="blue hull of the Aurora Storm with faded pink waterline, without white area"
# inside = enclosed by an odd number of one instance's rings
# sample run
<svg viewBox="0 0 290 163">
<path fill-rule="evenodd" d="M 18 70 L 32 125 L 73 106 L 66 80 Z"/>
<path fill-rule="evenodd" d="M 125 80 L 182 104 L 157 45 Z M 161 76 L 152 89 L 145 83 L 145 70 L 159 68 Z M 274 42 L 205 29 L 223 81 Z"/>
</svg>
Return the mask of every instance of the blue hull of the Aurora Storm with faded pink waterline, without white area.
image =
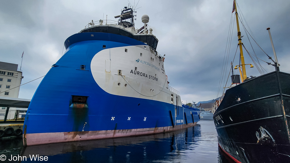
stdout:
<svg viewBox="0 0 290 163">
<path fill-rule="evenodd" d="M 100 88 L 90 64 L 103 45 L 116 48 L 144 43 L 116 34 L 93 34 L 95 37 L 79 33 L 66 40 L 66 53 L 46 74 L 31 100 L 24 122 L 24 145 L 168 132 L 199 121 L 198 109 L 109 94 Z M 80 65 L 86 69 L 81 70 Z M 87 97 L 87 107 L 74 107 L 72 96 Z"/>
</svg>

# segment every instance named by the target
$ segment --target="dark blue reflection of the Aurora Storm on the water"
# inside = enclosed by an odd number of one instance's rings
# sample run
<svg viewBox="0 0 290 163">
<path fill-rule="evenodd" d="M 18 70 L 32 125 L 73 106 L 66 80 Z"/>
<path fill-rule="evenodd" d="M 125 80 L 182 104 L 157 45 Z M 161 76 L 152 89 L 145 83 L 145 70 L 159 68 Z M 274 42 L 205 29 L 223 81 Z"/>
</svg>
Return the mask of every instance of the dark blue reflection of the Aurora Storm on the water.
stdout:
<svg viewBox="0 0 290 163">
<path fill-rule="evenodd" d="M 24 147 L 22 156 L 29 154 L 49 156 L 49 162 L 151 162 L 181 158 L 179 151 L 197 147 L 200 125 L 148 136 L 89 140 Z M 61 157 L 60 157 L 61 155 Z"/>
</svg>

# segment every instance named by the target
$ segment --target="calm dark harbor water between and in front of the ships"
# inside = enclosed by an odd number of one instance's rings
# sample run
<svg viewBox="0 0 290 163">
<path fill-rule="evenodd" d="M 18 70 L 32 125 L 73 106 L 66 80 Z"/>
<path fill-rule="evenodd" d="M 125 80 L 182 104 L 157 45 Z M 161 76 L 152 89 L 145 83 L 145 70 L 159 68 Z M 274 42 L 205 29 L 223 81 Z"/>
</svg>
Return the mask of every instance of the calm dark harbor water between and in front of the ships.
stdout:
<svg viewBox="0 0 290 163">
<path fill-rule="evenodd" d="M 1 160 L 2 155 L 6 157 L 2 162 L 233 162 L 219 150 L 216 129 L 210 120 L 199 121 L 194 127 L 147 136 L 28 147 L 23 147 L 22 139 L 6 140 L 0 142 L 0 155 Z"/>
</svg>

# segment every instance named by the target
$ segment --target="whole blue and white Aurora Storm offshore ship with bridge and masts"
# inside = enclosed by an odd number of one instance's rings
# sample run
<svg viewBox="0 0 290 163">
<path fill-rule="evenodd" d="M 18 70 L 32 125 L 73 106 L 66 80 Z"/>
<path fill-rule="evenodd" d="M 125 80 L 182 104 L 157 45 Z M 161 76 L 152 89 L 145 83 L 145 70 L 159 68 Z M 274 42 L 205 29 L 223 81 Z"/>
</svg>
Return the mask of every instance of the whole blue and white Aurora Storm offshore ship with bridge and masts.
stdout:
<svg viewBox="0 0 290 163">
<path fill-rule="evenodd" d="M 115 18 L 92 21 L 64 42 L 27 110 L 24 145 L 163 133 L 200 120 L 168 85 L 149 17 L 140 29 L 132 8 Z"/>
</svg>

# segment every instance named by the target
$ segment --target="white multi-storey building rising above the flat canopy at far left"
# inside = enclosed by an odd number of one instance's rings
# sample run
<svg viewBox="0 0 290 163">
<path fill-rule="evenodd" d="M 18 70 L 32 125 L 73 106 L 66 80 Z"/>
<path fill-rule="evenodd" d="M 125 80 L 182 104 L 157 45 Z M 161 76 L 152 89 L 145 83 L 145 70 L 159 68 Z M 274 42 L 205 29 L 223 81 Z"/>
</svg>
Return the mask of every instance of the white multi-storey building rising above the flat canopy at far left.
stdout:
<svg viewBox="0 0 290 163">
<path fill-rule="evenodd" d="M 0 62 L 0 96 L 18 98 L 20 87 L 17 86 L 20 86 L 23 76 L 17 68 L 17 64 Z"/>
</svg>

